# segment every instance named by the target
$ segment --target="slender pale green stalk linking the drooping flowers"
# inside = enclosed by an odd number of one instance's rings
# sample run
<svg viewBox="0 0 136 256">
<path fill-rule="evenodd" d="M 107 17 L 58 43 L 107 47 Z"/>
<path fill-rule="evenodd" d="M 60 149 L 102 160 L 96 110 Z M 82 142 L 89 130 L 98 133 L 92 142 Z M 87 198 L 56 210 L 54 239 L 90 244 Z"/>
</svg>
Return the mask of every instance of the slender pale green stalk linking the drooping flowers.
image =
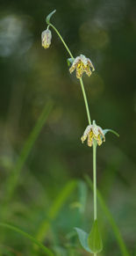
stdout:
<svg viewBox="0 0 136 256">
<path fill-rule="evenodd" d="M 68 54 L 70 55 L 71 58 L 74 58 L 74 56 L 71 54 L 67 44 L 62 39 L 61 34 L 58 32 L 58 30 L 51 23 L 49 23 L 49 26 L 52 26 L 54 28 L 54 31 L 59 35 L 64 47 L 67 49 Z M 89 125 L 90 125 L 91 124 L 91 119 L 90 119 L 90 113 L 89 113 L 89 104 L 88 104 L 88 100 L 87 100 L 87 97 L 86 97 L 86 92 L 85 92 L 85 89 L 84 89 L 82 78 L 80 78 L 80 84 L 81 84 L 81 87 L 82 87 L 83 99 L 84 99 L 85 108 L 86 108 L 86 112 L 87 112 L 87 117 L 88 117 L 88 121 L 89 121 Z M 96 142 L 94 142 L 93 143 L 94 220 L 97 219 L 97 165 L 96 165 L 96 155 L 97 155 L 97 144 L 96 144 Z M 94 253 L 94 256 L 97 256 L 97 253 Z"/>
</svg>

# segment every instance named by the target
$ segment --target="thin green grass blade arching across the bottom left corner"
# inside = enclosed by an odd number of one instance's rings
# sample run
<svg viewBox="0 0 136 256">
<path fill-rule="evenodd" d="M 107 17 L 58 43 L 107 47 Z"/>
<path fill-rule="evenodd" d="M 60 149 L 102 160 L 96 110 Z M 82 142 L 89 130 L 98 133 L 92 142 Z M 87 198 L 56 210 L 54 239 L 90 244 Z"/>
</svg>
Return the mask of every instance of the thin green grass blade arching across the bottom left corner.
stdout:
<svg viewBox="0 0 136 256">
<path fill-rule="evenodd" d="M 42 245 L 36 238 L 33 238 L 31 235 L 29 235 L 25 231 L 20 230 L 17 227 L 14 227 L 11 224 L 7 224 L 7 223 L 0 223 L 0 226 L 2 226 L 4 228 L 7 228 L 7 229 L 10 229 L 10 230 L 13 230 L 15 232 L 18 232 L 20 235 L 22 235 L 25 238 L 28 238 L 29 240 L 31 240 L 33 244 L 39 245 L 39 248 L 41 248 L 43 250 L 43 252 L 46 253 L 45 255 L 54 256 L 54 253 L 51 252 L 45 245 Z"/>
</svg>

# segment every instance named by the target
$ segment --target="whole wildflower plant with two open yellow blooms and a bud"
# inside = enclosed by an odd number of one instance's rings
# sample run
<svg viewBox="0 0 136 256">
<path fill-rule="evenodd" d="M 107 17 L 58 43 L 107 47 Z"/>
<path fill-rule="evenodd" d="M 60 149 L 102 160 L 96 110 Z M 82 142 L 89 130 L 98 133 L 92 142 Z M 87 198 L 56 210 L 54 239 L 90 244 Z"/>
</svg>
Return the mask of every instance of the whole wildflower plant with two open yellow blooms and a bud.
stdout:
<svg viewBox="0 0 136 256">
<path fill-rule="evenodd" d="M 91 122 L 90 119 L 90 113 L 89 113 L 89 105 L 88 100 L 86 97 L 86 92 L 84 90 L 84 84 L 82 81 L 82 75 L 85 72 L 88 77 L 92 74 L 93 71 L 95 71 L 94 65 L 90 61 L 88 57 L 85 55 L 79 55 L 74 57 L 66 42 L 62 39 L 61 34 L 58 32 L 56 27 L 50 22 L 50 18 L 53 16 L 54 12 L 56 10 L 52 11 L 46 18 L 47 21 L 47 29 L 42 32 L 41 34 L 41 41 L 42 41 L 42 47 L 43 48 L 49 48 L 51 44 L 52 39 L 52 33 L 49 30 L 49 27 L 52 27 L 54 31 L 58 34 L 60 37 L 64 47 L 68 51 L 68 55 L 70 56 L 67 60 L 69 72 L 76 72 L 76 77 L 79 80 L 82 88 L 82 95 L 85 103 L 87 118 L 88 118 L 88 124 L 85 128 L 83 135 L 81 137 L 82 143 L 87 139 L 87 144 L 89 147 L 93 148 L 93 198 L 94 198 L 94 222 L 92 224 L 92 228 L 88 233 L 86 233 L 84 230 L 81 230 L 79 228 L 75 228 L 77 231 L 79 240 L 81 242 L 82 247 L 90 253 L 93 253 L 94 256 L 97 256 L 98 252 L 101 252 L 103 250 L 103 243 L 102 238 L 100 234 L 100 230 L 97 223 L 97 145 L 101 146 L 102 143 L 105 142 L 105 135 L 107 132 L 111 132 L 115 135 L 118 135 L 117 132 L 113 131 L 112 129 L 103 129 L 100 126 L 97 126 L 96 121 Z"/>
</svg>

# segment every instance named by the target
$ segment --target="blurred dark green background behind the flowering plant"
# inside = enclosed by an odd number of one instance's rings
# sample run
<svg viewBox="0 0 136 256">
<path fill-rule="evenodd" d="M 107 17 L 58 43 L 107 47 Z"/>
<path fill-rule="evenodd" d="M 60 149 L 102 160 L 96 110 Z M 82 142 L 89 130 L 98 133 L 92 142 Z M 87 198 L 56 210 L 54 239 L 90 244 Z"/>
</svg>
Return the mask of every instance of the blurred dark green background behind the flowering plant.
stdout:
<svg viewBox="0 0 136 256">
<path fill-rule="evenodd" d="M 52 23 L 73 55 L 86 55 L 96 68 L 83 77 L 91 119 L 120 135 L 107 134 L 97 150 L 97 187 L 128 252 L 136 255 L 135 1 L 1 1 L 0 220 L 39 238 L 54 255 L 89 255 L 74 230 L 89 231 L 93 220 L 93 195 L 84 179 L 92 179 L 92 150 L 80 140 L 88 124 L 82 91 L 54 31 L 51 47 L 41 48 L 46 16 L 54 9 Z M 50 111 L 41 121 L 45 105 Z M 37 135 L 30 137 L 38 120 Z M 99 203 L 98 219 L 104 241 L 99 255 L 128 255 Z M 0 252 L 45 255 L 4 227 Z"/>
</svg>

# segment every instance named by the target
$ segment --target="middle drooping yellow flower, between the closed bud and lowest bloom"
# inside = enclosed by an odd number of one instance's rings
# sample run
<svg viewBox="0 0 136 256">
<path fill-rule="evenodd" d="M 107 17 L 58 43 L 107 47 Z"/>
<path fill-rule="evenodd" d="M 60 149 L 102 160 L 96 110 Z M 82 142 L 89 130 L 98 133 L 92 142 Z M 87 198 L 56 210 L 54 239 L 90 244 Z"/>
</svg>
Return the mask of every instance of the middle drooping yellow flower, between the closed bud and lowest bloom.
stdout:
<svg viewBox="0 0 136 256">
<path fill-rule="evenodd" d="M 81 78 L 83 72 L 90 76 L 92 71 L 95 70 L 92 62 L 89 60 L 89 58 L 86 58 L 84 55 L 80 55 L 75 58 L 71 68 L 69 69 L 70 73 L 72 73 L 75 69 L 77 78 Z"/>
</svg>

